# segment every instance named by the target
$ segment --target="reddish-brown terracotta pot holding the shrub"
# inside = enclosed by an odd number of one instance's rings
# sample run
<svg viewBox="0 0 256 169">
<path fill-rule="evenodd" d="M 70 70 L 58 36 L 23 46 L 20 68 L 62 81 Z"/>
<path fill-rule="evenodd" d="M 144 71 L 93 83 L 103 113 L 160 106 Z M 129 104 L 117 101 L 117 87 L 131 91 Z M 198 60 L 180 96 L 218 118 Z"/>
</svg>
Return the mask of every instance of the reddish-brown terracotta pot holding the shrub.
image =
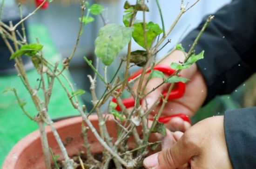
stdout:
<svg viewBox="0 0 256 169">
<path fill-rule="evenodd" d="M 98 127 L 98 118 L 96 115 L 90 115 L 89 119 L 96 128 Z M 111 119 L 111 118 L 109 118 Z M 65 119 L 54 123 L 57 131 L 60 134 L 61 140 L 67 148 L 69 156 L 77 154 L 78 151 L 84 150 L 83 138 L 81 137 L 81 117 L 75 117 L 70 119 Z M 113 120 L 106 121 L 108 130 L 111 131 L 109 134 L 111 137 L 116 136 L 116 125 Z M 54 155 L 60 155 L 58 160 L 63 160 L 61 150 L 57 142 L 55 141 L 53 132 L 50 126 L 46 127 L 49 147 L 52 148 Z M 94 137 L 91 130 L 88 131 L 88 138 L 91 144 L 90 150 L 92 153 L 102 152 L 102 146 L 99 144 L 98 140 Z M 115 141 L 115 138 L 114 138 Z M 135 143 L 130 142 L 129 147 L 135 147 Z M 21 139 L 13 149 L 7 155 L 2 169 L 45 169 L 45 164 L 41 149 L 41 140 L 39 131 L 34 131 L 27 135 L 25 138 Z"/>
</svg>

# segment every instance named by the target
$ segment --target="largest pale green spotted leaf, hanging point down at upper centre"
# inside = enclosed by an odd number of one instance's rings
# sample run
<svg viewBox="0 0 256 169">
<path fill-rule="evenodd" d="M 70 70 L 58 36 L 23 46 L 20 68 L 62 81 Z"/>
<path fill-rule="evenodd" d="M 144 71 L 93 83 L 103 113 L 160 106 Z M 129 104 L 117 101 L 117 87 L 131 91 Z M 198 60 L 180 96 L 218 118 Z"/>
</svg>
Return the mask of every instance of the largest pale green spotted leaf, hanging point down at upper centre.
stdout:
<svg viewBox="0 0 256 169">
<path fill-rule="evenodd" d="M 133 27 L 108 24 L 102 27 L 95 40 L 95 55 L 109 66 L 118 53 L 130 42 Z"/>
</svg>

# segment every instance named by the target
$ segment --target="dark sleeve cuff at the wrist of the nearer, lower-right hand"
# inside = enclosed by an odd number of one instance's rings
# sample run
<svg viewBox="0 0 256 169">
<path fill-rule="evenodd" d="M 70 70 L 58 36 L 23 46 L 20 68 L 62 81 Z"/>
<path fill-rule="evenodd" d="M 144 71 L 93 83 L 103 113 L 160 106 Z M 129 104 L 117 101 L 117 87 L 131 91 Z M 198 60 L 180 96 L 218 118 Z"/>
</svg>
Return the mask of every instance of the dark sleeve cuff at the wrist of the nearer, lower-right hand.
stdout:
<svg viewBox="0 0 256 169">
<path fill-rule="evenodd" d="M 224 132 L 234 169 L 255 169 L 256 107 L 227 110 Z"/>
</svg>

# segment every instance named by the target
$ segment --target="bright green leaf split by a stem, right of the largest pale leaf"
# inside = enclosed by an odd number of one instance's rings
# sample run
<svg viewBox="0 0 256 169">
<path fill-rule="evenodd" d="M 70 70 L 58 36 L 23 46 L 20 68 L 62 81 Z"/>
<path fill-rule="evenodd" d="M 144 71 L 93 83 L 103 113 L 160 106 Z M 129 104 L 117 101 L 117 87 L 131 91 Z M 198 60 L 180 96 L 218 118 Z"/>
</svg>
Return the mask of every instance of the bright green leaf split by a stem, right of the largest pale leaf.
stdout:
<svg viewBox="0 0 256 169">
<path fill-rule="evenodd" d="M 133 31 L 132 37 L 134 38 L 135 42 L 141 45 L 143 48 L 145 47 L 145 40 L 144 40 L 144 31 L 143 31 L 143 23 L 134 24 L 135 30 Z M 146 24 L 146 37 L 147 37 L 147 45 L 148 47 L 151 46 L 153 40 L 157 35 L 162 33 L 162 29 L 159 25 L 154 24 L 153 22 L 149 22 Z"/>
</svg>

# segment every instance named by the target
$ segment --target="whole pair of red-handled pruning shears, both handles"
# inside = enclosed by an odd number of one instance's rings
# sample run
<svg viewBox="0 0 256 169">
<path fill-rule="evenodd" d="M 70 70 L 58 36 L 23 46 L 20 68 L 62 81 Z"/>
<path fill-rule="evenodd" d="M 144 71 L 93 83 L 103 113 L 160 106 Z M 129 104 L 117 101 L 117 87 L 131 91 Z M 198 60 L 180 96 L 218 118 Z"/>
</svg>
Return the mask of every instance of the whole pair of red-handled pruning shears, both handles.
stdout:
<svg viewBox="0 0 256 169">
<path fill-rule="evenodd" d="M 168 75 L 172 75 L 175 73 L 175 70 L 174 69 L 171 69 L 169 66 L 167 65 L 156 65 L 153 70 L 159 70 L 165 74 L 168 74 Z M 147 73 L 150 73 L 151 70 L 148 70 Z M 128 81 L 131 81 L 133 80 L 135 77 L 137 77 L 138 75 L 141 75 L 142 73 L 142 69 L 136 71 L 130 78 L 128 78 Z M 183 96 L 183 94 L 185 93 L 185 88 L 186 88 L 186 85 L 185 83 L 183 83 L 182 81 L 179 81 L 176 83 L 177 84 L 177 88 L 173 89 L 169 96 L 168 96 L 168 100 L 171 100 L 171 99 L 178 99 L 178 98 L 181 98 Z M 163 98 L 166 97 L 167 95 L 167 91 L 164 91 L 162 93 L 163 95 Z M 112 99 L 113 102 L 117 103 L 115 98 Z M 130 97 L 130 98 L 126 98 L 126 99 L 122 99 L 122 102 L 124 104 L 124 106 L 126 108 L 129 108 L 129 107 L 133 107 L 135 105 L 135 99 L 133 97 Z M 121 108 L 120 106 L 116 106 L 115 108 L 117 111 L 121 111 Z M 162 123 L 167 123 L 170 119 L 174 118 L 174 117 L 180 117 L 182 118 L 184 121 L 187 121 L 189 123 L 190 122 L 190 119 L 187 115 L 183 114 L 183 113 L 180 113 L 180 114 L 173 114 L 173 115 L 170 115 L 170 116 L 164 116 L 164 117 L 160 117 L 158 119 L 159 122 L 162 122 Z M 153 119 L 150 119 L 150 120 L 153 120 Z"/>
</svg>

